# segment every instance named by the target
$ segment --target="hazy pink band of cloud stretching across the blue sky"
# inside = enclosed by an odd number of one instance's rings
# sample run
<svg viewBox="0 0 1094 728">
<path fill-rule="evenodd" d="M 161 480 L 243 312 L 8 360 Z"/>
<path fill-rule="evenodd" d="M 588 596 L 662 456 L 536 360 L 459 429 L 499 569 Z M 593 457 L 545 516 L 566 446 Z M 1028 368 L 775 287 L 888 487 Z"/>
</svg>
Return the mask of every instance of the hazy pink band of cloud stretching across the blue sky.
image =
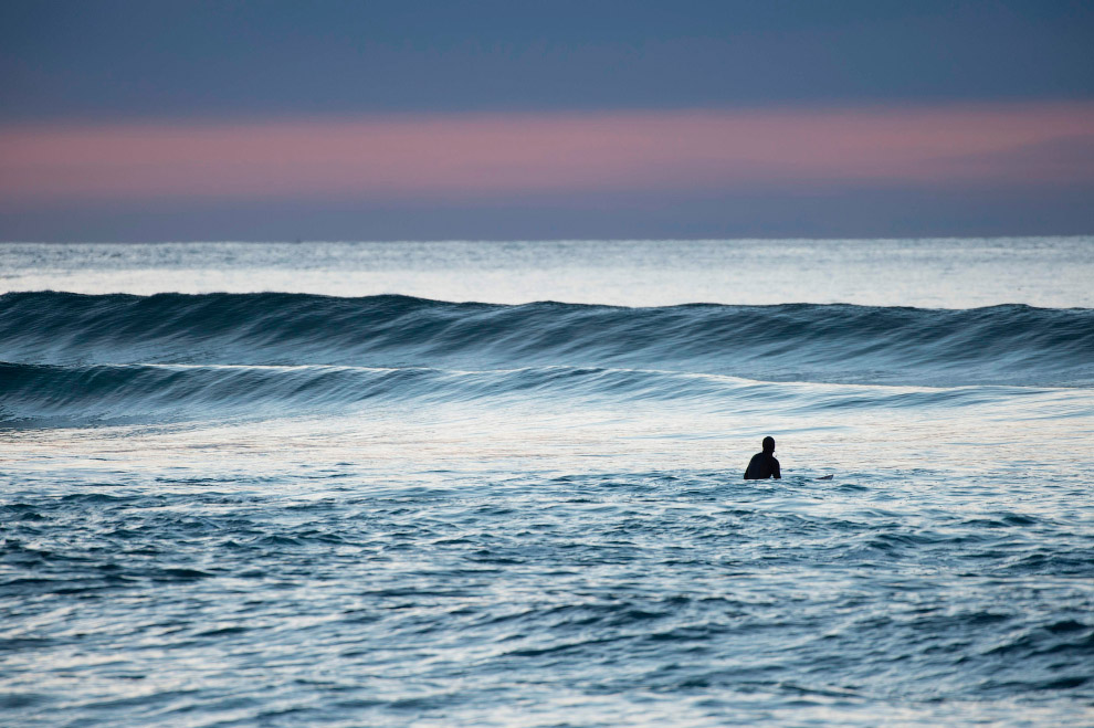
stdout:
<svg viewBox="0 0 1094 728">
<path fill-rule="evenodd" d="M 8 203 L 1094 181 L 1094 104 L 0 128 Z M 1074 154 L 1072 152 L 1074 150 Z"/>
</svg>

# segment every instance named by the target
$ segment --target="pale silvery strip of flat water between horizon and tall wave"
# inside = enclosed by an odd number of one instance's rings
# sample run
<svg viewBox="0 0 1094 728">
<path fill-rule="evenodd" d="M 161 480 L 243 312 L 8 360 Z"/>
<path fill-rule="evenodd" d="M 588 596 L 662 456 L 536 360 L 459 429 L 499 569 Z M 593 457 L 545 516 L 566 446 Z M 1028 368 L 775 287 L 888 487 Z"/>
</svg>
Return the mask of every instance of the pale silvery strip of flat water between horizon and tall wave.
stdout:
<svg viewBox="0 0 1094 728">
<path fill-rule="evenodd" d="M 0 245 L 0 292 L 1094 307 L 1094 238 Z"/>
</svg>

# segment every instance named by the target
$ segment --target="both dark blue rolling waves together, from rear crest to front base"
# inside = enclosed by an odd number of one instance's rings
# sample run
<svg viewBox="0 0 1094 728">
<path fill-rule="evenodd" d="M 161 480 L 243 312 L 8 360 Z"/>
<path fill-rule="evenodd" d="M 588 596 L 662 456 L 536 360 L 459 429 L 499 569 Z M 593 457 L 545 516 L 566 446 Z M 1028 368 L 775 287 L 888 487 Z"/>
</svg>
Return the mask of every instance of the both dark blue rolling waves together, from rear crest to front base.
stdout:
<svg viewBox="0 0 1094 728">
<path fill-rule="evenodd" d="M 8 423 L 514 398 L 830 412 L 978 404 L 998 386 L 1050 397 L 1045 387 L 1092 380 L 1091 309 L 0 297 L 0 422 Z M 872 384 L 912 390 L 864 387 Z"/>
</svg>

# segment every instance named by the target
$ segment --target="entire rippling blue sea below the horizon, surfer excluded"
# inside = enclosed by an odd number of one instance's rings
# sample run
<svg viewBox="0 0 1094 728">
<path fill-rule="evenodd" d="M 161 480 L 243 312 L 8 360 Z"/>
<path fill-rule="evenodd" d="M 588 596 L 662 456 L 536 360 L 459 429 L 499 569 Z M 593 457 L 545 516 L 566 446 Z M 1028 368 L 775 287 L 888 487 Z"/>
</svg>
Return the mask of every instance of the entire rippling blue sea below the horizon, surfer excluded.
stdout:
<svg viewBox="0 0 1094 728">
<path fill-rule="evenodd" d="M 1094 725 L 1091 281 L 0 245 L 0 724 Z"/>
</svg>

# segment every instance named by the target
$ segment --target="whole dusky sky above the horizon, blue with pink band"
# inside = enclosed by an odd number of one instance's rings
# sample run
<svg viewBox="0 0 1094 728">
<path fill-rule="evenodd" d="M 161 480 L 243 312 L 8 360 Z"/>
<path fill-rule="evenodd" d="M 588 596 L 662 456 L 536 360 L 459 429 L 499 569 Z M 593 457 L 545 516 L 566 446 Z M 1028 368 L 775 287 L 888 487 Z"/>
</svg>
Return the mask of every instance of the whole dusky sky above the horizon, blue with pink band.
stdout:
<svg viewBox="0 0 1094 728">
<path fill-rule="evenodd" d="M 0 240 L 1094 234 L 1094 3 L 0 3 Z"/>
</svg>

